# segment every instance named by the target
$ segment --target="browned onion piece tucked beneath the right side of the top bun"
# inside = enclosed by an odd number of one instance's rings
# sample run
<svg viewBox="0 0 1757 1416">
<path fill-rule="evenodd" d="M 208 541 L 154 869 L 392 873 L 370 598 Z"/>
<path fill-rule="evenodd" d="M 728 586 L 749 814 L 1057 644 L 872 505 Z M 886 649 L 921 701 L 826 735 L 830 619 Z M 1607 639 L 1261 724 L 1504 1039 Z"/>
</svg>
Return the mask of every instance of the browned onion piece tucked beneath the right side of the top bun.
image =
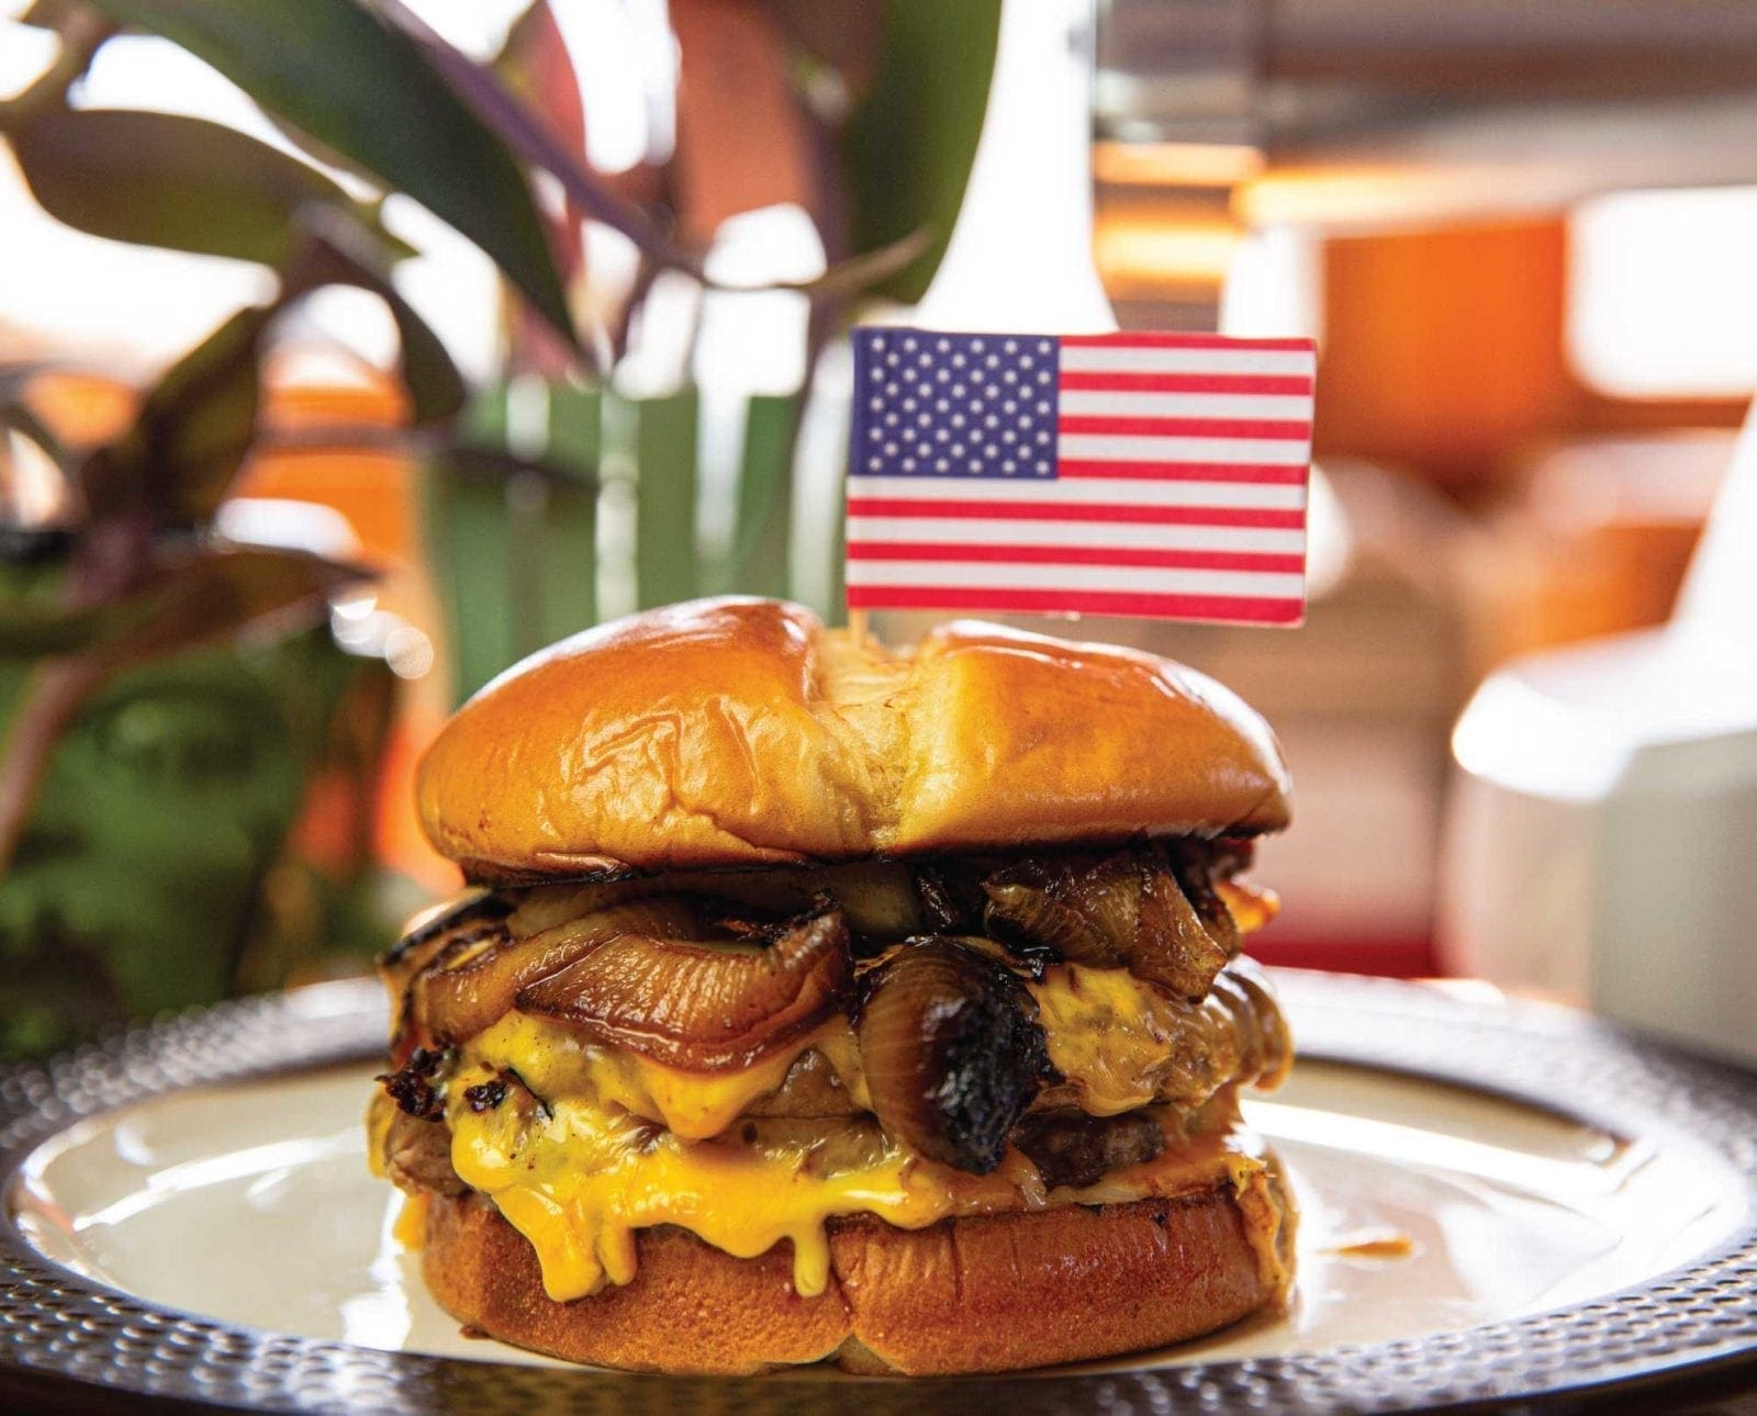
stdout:
<svg viewBox="0 0 1757 1416">
<path fill-rule="evenodd" d="M 1014 949 L 1049 949 L 1093 968 L 1117 968 L 1197 1000 L 1237 952 L 1239 929 L 1193 861 L 1179 873 L 1156 852 L 1102 861 L 1047 857 L 996 870 L 982 882 L 989 933 Z"/>
</svg>

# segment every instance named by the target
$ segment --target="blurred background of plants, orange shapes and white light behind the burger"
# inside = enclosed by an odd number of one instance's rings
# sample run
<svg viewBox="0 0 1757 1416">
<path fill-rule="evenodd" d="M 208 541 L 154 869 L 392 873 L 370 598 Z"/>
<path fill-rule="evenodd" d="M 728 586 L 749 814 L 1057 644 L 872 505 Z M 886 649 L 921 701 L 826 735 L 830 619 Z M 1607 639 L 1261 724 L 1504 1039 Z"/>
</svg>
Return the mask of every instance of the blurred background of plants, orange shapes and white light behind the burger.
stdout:
<svg viewBox="0 0 1757 1416">
<path fill-rule="evenodd" d="M 5 9 L 5 1052 L 358 968 L 532 648 L 842 618 L 852 320 L 1112 316 L 1320 344 L 1304 629 L 1021 620 L 1274 722 L 1254 949 L 1757 1047 L 1757 7 Z"/>
</svg>

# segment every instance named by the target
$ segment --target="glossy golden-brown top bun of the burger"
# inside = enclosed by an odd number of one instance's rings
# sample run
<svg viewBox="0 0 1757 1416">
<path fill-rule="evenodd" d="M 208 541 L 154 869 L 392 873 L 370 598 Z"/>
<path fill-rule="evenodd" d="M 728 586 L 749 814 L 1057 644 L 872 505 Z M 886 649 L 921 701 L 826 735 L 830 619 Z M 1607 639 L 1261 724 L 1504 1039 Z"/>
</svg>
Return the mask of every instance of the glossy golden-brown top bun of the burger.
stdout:
<svg viewBox="0 0 1757 1416">
<path fill-rule="evenodd" d="M 476 880 L 808 864 L 1288 824 L 1269 726 L 1139 650 L 954 622 L 914 650 L 699 599 L 488 683 L 420 766 Z"/>
</svg>

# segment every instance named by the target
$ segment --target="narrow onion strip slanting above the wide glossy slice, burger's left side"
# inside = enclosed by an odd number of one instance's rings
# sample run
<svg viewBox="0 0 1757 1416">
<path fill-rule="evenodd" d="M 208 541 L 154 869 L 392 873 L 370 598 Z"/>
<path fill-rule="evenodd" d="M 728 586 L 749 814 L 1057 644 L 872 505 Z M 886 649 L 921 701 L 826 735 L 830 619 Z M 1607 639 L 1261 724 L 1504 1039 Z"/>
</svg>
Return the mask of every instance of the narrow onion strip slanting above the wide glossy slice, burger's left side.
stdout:
<svg viewBox="0 0 1757 1416">
<path fill-rule="evenodd" d="M 529 938 L 510 938 L 460 968 L 429 972 L 418 984 L 418 1012 L 434 1038 L 462 1042 L 511 1010 L 520 989 L 568 968 L 606 940 L 687 938 L 696 929 L 696 912 L 671 896 L 613 905 Z"/>
</svg>

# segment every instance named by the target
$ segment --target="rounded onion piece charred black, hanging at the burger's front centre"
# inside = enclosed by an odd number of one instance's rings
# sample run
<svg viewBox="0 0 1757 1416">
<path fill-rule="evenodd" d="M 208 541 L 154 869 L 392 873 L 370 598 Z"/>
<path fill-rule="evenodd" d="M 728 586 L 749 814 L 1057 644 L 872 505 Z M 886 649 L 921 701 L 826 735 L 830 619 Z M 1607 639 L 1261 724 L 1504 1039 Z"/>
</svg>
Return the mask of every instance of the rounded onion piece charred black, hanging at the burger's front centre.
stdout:
<svg viewBox="0 0 1757 1416">
<path fill-rule="evenodd" d="M 986 1175 L 1049 1054 L 1037 1003 L 1001 964 L 912 940 L 864 980 L 861 1065 L 878 1123 L 917 1154 Z"/>
</svg>

